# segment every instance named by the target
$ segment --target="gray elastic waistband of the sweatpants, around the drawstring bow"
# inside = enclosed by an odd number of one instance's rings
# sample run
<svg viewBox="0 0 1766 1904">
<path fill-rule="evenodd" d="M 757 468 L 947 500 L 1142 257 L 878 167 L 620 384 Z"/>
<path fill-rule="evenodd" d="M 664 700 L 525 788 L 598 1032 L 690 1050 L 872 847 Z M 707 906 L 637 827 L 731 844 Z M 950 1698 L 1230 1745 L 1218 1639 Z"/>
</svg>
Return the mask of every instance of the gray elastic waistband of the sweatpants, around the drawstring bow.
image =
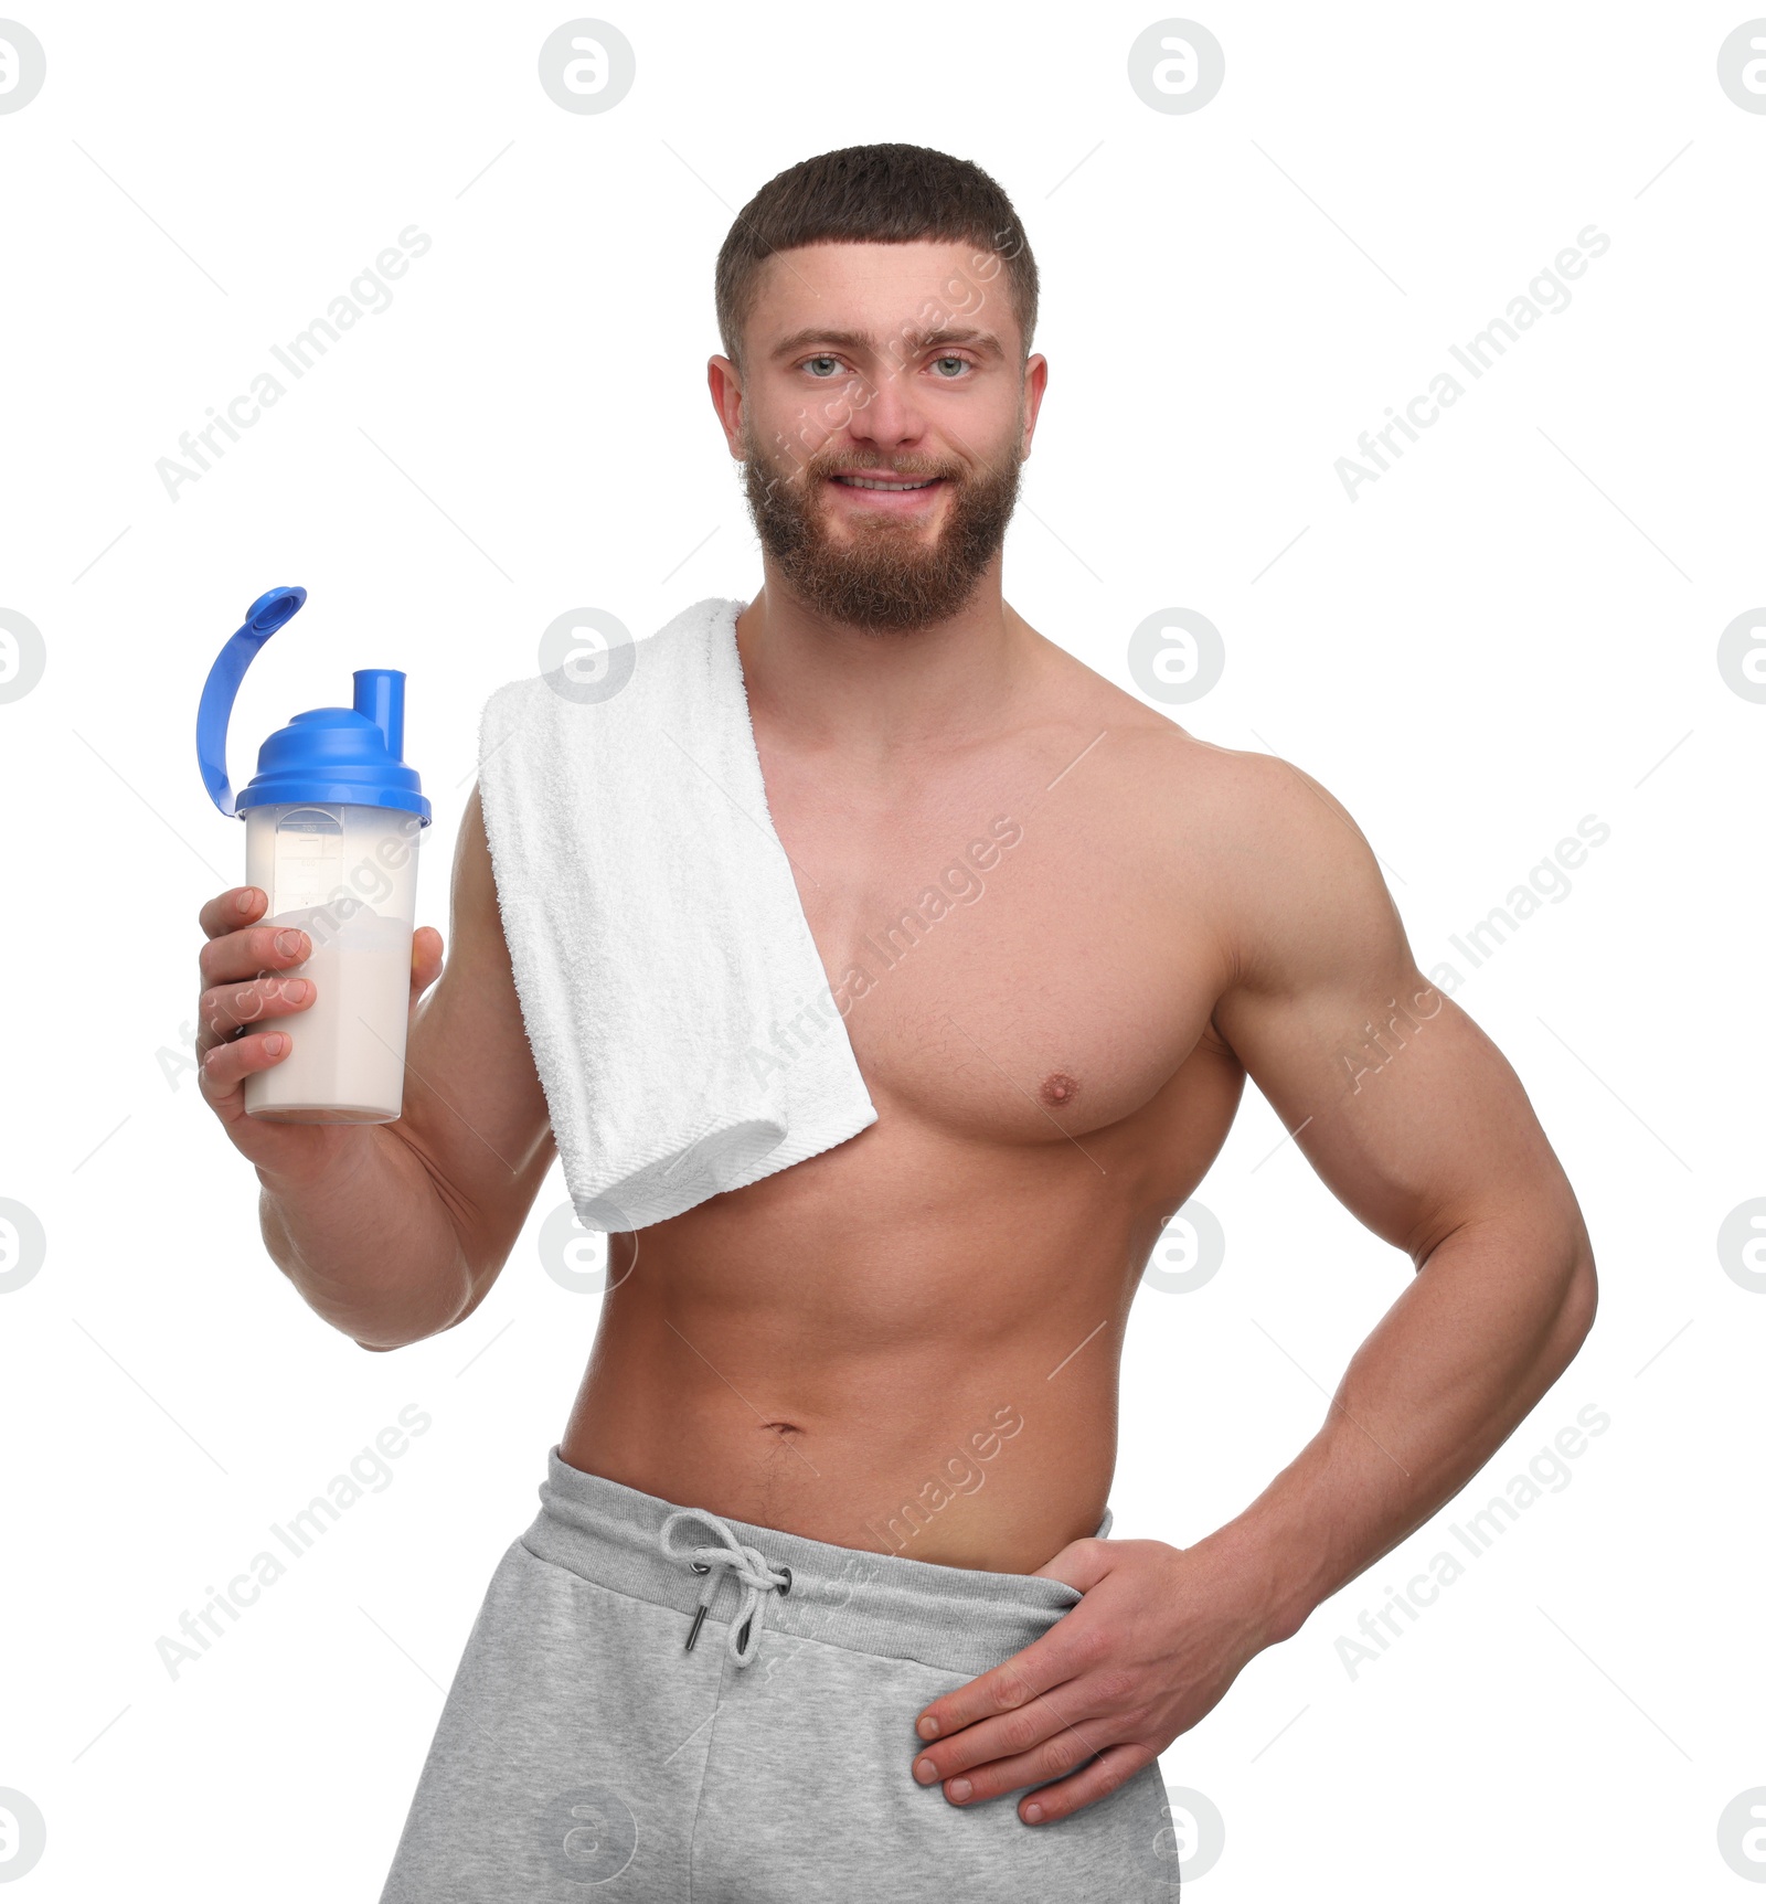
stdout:
<svg viewBox="0 0 1766 1904">
<path fill-rule="evenodd" d="M 554 1447 L 546 1455 L 540 1512 L 521 1535 L 521 1544 L 539 1559 L 567 1567 L 596 1586 L 674 1607 L 681 1615 L 685 1643 L 706 1582 L 662 1550 L 662 1523 L 683 1506 L 697 1502 L 660 1500 L 620 1481 L 584 1474 Z M 974 1676 L 1041 1637 L 1083 1597 L 1064 1580 L 1039 1575 L 938 1567 L 716 1517 L 742 1546 L 755 1548 L 769 1567 L 790 1569 L 790 1590 L 767 1596 L 769 1636 L 792 1634 Z M 1108 1535 L 1109 1525 L 1106 1510 L 1098 1535 Z M 676 1538 L 685 1546 L 685 1535 Z M 735 1611 L 736 1596 L 719 1596 L 704 1618 L 706 1630 L 717 1628 L 723 1639 Z"/>
</svg>

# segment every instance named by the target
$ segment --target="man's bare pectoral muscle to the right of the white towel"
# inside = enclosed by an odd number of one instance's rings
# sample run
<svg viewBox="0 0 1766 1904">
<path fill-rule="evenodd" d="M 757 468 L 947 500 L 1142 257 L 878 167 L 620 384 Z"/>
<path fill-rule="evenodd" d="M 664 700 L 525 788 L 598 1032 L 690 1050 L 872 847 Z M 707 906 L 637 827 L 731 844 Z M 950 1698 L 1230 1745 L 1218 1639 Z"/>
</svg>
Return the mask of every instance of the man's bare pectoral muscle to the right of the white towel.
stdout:
<svg viewBox="0 0 1766 1904">
<path fill-rule="evenodd" d="M 879 1110 L 1035 1142 L 1132 1116 L 1218 998 L 1168 863 L 1079 800 L 953 794 L 887 823 L 775 802 Z"/>
</svg>

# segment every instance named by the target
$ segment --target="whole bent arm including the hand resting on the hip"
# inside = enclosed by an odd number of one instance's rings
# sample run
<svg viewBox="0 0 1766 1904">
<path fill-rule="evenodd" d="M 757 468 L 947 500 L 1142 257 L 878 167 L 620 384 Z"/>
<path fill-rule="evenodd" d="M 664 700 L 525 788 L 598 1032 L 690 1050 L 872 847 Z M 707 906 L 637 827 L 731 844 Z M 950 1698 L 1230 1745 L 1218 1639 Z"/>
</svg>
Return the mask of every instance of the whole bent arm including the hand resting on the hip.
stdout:
<svg viewBox="0 0 1766 1904">
<path fill-rule="evenodd" d="M 1144 1771 L 1248 1660 L 1422 1525 L 1595 1316 L 1581 1213 L 1526 1093 L 1423 984 L 1368 843 L 1285 762 L 1237 756 L 1220 771 L 1208 885 L 1231 977 L 1218 1036 L 1416 1278 L 1357 1350 L 1324 1426 L 1243 1514 L 1189 1548 L 1062 1548 L 1037 1571 L 1083 1601 L 919 1714 L 913 1776 L 955 1805 L 1033 1786 L 1026 1824 Z"/>
</svg>

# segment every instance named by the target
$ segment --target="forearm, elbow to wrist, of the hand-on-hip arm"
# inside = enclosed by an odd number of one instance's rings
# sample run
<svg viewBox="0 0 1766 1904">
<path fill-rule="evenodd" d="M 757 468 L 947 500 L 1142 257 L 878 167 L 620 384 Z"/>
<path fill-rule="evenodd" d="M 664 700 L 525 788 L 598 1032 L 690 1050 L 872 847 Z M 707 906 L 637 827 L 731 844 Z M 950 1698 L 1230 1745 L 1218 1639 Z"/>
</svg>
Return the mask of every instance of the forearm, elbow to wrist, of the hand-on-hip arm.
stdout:
<svg viewBox="0 0 1766 1904">
<path fill-rule="evenodd" d="M 1203 1542 L 1243 1571 L 1267 1641 L 1452 1500 L 1568 1367 L 1595 1314 L 1593 1260 L 1580 1224 L 1538 1236 L 1488 1222 L 1441 1243 L 1319 1434 Z"/>
</svg>

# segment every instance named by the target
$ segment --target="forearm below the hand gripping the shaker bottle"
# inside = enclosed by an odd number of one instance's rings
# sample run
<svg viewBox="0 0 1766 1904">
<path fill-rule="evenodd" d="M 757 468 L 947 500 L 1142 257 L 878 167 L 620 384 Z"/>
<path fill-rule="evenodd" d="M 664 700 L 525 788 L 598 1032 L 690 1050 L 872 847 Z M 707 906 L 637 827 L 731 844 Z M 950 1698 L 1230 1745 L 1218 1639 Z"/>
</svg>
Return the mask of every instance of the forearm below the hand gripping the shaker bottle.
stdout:
<svg viewBox="0 0 1766 1904">
<path fill-rule="evenodd" d="M 259 1169 L 265 1247 L 333 1329 L 402 1348 L 449 1327 L 472 1300 L 461 1236 L 422 1158 L 392 1123 L 312 1180 Z"/>
</svg>

